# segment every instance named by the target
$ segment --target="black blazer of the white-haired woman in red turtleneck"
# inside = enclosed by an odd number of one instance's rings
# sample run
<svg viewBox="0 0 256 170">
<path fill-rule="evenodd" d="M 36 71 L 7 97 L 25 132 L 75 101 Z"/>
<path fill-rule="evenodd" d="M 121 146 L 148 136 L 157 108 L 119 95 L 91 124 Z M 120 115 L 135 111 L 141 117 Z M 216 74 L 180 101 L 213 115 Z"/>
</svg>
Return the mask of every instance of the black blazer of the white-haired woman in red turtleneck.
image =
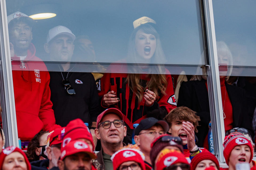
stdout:
<svg viewBox="0 0 256 170">
<path fill-rule="evenodd" d="M 233 109 L 233 127 L 243 127 L 252 132 L 252 118 L 250 118 L 245 100 L 245 90 L 242 88 L 225 83 L 229 99 Z M 208 91 L 205 85 L 205 80 L 195 80 L 182 82 L 179 89 L 179 100 L 177 106 L 186 106 L 197 112 L 200 117 L 197 127 L 198 137 L 197 145 L 203 147 L 203 141 L 208 134 L 210 118 L 210 107 Z"/>
</svg>

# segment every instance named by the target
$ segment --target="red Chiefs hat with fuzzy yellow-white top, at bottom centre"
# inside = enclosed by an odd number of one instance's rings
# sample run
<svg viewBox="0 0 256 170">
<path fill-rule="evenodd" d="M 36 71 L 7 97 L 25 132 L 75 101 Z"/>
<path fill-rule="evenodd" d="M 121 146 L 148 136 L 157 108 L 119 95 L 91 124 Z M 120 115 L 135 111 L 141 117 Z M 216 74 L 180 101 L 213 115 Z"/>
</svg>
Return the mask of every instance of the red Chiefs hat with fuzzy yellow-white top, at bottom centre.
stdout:
<svg viewBox="0 0 256 170">
<path fill-rule="evenodd" d="M 111 160 L 113 162 L 113 170 L 117 170 L 118 167 L 128 161 L 134 161 L 137 162 L 141 165 L 142 170 L 145 170 L 145 156 L 143 153 L 137 149 L 133 148 L 123 148 L 120 149 L 119 151 L 115 152 L 111 156 Z"/>
</svg>

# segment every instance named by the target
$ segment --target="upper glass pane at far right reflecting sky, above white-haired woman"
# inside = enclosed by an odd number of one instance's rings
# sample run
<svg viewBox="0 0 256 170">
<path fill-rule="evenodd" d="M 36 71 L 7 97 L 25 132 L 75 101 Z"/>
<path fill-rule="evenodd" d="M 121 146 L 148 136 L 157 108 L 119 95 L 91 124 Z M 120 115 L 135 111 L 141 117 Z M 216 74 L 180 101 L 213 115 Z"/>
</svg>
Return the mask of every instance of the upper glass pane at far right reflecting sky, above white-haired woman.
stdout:
<svg viewBox="0 0 256 170">
<path fill-rule="evenodd" d="M 255 1 L 213 1 L 216 40 L 225 42 L 230 50 L 226 52 L 230 75 L 256 75 L 255 5 Z"/>
</svg>

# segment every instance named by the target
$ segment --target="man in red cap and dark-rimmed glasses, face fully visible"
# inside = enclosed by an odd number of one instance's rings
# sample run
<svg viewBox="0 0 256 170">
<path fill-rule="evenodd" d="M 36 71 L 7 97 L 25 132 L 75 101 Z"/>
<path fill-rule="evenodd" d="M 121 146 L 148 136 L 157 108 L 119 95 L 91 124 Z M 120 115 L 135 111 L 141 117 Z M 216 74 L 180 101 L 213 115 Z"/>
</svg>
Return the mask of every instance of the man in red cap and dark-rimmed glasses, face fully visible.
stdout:
<svg viewBox="0 0 256 170">
<path fill-rule="evenodd" d="M 124 146 L 123 138 L 126 136 L 126 126 L 123 114 L 116 108 L 109 108 L 97 117 L 96 137 L 101 140 L 101 151 L 97 154 L 97 162 L 102 170 L 113 170 L 111 156 Z"/>
</svg>

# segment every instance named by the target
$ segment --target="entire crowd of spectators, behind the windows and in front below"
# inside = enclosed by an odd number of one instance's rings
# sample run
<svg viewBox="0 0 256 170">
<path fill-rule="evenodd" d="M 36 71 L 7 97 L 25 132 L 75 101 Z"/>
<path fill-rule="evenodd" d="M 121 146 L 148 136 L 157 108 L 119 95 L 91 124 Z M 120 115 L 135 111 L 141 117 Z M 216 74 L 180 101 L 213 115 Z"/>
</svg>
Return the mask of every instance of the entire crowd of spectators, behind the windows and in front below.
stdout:
<svg viewBox="0 0 256 170">
<path fill-rule="evenodd" d="M 222 169 L 208 151 L 207 78 L 193 76 L 187 81 L 159 65 L 147 65 L 165 60 L 153 19 L 134 21 L 128 56 L 122 61 L 145 65 L 110 65 L 104 74 L 72 71 L 79 67 L 71 63 L 72 57 L 91 56 L 96 61 L 87 36 L 76 39 L 65 26 L 51 28 L 44 49 L 52 61 L 61 62 L 45 65 L 31 43 L 33 19 L 21 12 L 7 19 L 18 138 L 26 154 L 14 146 L 0 150 L 1 169 Z M 217 51 L 220 65 L 232 62 L 223 41 L 217 42 Z M 48 72 L 53 66 L 59 71 Z M 256 169 L 251 138 L 256 101 L 251 101 L 247 88 L 228 81 L 230 68 L 219 71 L 227 169 L 234 170 L 239 163 Z M 4 145 L 1 129 L 0 149 Z"/>
</svg>

